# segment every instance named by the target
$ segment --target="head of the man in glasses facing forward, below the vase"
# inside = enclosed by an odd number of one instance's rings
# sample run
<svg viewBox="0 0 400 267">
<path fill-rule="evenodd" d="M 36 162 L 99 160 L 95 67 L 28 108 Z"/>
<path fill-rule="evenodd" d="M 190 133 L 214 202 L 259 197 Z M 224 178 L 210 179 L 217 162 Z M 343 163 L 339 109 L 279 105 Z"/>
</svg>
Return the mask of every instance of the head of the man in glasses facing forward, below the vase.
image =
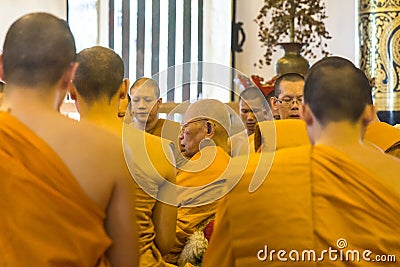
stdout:
<svg viewBox="0 0 400 267">
<path fill-rule="evenodd" d="M 299 107 L 303 101 L 304 77 L 298 73 L 280 76 L 274 85 L 275 97 L 271 97 L 271 108 L 280 119 L 300 119 Z"/>
</svg>

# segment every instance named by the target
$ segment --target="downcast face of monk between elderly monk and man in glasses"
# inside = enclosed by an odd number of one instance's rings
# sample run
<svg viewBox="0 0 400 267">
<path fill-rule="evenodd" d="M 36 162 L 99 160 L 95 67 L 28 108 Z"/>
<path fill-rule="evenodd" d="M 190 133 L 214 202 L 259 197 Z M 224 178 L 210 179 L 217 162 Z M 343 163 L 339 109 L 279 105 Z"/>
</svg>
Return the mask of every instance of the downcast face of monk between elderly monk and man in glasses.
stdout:
<svg viewBox="0 0 400 267">
<path fill-rule="evenodd" d="M 239 101 L 239 112 L 248 135 L 254 133 L 254 127 L 258 121 L 266 119 L 266 111 L 259 98 L 247 99 L 245 101 L 241 99 Z"/>
</svg>

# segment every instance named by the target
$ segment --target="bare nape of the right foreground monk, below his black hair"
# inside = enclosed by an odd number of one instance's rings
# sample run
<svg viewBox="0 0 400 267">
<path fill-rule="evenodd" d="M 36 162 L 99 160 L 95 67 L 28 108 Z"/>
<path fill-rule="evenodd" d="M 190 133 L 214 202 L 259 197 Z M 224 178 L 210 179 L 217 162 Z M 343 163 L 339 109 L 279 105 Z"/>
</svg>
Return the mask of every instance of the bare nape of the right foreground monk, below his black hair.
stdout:
<svg viewBox="0 0 400 267">
<path fill-rule="evenodd" d="M 361 123 L 332 122 L 325 127 L 318 127 L 315 133 L 315 145 L 327 145 L 347 151 L 362 146 Z"/>
</svg>

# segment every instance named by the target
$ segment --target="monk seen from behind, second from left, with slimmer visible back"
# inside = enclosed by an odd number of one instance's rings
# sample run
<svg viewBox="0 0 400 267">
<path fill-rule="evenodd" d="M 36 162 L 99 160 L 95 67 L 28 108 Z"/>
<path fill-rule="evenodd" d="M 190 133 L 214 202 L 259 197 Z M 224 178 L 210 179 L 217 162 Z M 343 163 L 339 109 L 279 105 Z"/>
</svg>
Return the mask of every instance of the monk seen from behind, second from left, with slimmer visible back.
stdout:
<svg viewBox="0 0 400 267">
<path fill-rule="evenodd" d="M 70 95 L 76 100 L 81 121 L 113 132 L 132 153 L 127 163 L 137 181 L 139 266 L 168 266 L 162 255 L 173 245 L 177 216 L 173 199 L 176 191 L 174 194 L 169 186 L 176 183 L 173 154 L 168 147 L 171 142 L 128 125 L 123 130 L 117 111 L 127 97 L 129 80 L 124 79 L 124 63 L 119 55 L 94 46 L 79 52 L 77 62 Z"/>
</svg>

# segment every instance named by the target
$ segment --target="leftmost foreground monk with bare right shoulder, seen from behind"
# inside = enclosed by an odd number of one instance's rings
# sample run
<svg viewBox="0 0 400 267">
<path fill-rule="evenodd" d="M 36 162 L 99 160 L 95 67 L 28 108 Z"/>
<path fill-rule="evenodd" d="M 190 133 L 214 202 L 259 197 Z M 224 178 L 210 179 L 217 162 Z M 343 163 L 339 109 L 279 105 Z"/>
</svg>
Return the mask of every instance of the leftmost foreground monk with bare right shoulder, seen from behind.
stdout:
<svg viewBox="0 0 400 267">
<path fill-rule="evenodd" d="M 75 56 L 67 23 L 50 14 L 26 15 L 7 33 L 0 266 L 137 266 L 131 178 L 118 138 L 58 112 Z"/>
</svg>

